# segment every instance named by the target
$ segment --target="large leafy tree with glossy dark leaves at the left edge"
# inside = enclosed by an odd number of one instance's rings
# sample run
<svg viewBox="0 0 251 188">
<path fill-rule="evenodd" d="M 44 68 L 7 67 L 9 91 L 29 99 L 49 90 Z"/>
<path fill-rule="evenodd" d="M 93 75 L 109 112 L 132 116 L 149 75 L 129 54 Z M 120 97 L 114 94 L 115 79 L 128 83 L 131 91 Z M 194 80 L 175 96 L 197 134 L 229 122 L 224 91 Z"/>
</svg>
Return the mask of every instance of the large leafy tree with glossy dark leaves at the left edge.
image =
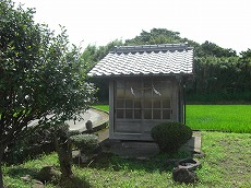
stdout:
<svg viewBox="0 0 251 188">
<path fill-rule="evenodd" d="M 93 101 L 79 49 L 70 46 L 64 27 L 55 35 L 33 21 L 33 9 L 0 2 L 0 187 L 1 162 L 8 144 L 38 126 L 76 118 Z"/>
</svg>

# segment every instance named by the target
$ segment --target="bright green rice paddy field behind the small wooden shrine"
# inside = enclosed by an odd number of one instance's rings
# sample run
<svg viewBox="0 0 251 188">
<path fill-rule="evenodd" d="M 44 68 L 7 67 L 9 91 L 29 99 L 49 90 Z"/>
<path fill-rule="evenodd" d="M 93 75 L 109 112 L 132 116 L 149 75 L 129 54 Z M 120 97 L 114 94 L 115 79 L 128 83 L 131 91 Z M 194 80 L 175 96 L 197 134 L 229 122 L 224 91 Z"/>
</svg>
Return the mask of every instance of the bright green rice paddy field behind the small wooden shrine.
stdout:
<svg viewBox="0 0 251 188">
<path fill-rule="evenodd" d="M 109 111 L 108 105 L 94 107 Z M 195 130 L 251 133 L 251 105 L 187 105 L 186 124 Z"/>
</svg>

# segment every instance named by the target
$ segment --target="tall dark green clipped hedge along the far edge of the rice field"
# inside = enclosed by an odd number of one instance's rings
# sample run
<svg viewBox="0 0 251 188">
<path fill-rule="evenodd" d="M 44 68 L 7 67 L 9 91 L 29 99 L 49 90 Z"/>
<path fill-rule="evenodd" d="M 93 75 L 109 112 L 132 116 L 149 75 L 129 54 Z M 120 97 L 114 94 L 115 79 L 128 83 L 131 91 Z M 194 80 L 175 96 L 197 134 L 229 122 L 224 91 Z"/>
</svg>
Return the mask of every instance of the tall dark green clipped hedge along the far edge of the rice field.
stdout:
<svg viewBox="0 0 251 188">
<path fill-rule="evenodd" d="M 193 67 L 195 77 L 188 87 L 189 95 L 218 93 L 228 95 L 226 101 L 235 101 L 231 96 L 250 91 L 251 66 L 243 66 L 239 57 L 195 58 Z"/>
</svg>

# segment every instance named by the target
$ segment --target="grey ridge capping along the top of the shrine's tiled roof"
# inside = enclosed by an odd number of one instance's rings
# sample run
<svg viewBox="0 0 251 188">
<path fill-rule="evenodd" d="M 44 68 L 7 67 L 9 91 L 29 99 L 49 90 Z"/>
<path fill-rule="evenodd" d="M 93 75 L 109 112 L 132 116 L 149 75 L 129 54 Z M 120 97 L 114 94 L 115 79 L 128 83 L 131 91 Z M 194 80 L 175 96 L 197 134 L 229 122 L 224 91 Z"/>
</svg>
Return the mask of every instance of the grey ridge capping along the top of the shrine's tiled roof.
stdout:
<svg viewBox="0 0 251 188">
<path fill-rule="evenodd" d="M 128 54 L 128 52 L 148 52 L 148 51 L 167 51 L 167 50 L 187 50 L 192 49 L 188 47 L 187 43 L 180 44 L 158 44 L 158 45 L 141 45 L 141 46 L 116 46 L 110 50 L 112 54 Z"/>
</svg>

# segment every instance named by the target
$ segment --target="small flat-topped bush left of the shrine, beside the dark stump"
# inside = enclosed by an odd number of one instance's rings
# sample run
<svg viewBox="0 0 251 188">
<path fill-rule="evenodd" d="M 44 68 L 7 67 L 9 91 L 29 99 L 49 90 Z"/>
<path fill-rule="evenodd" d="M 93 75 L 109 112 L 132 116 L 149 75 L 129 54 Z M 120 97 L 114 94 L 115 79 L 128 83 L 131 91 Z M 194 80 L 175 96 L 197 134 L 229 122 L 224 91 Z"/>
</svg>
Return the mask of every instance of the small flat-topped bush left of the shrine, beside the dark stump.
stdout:
<svg viewBox="0 0 251 188">
<path fill-rule="evenodd" d="M 70 137 L 70 139 L 81 150 L 81 153 L 92 153 L 99 146 L 98 137 L 95 134 L 76 134 Z"/>
</svg>

